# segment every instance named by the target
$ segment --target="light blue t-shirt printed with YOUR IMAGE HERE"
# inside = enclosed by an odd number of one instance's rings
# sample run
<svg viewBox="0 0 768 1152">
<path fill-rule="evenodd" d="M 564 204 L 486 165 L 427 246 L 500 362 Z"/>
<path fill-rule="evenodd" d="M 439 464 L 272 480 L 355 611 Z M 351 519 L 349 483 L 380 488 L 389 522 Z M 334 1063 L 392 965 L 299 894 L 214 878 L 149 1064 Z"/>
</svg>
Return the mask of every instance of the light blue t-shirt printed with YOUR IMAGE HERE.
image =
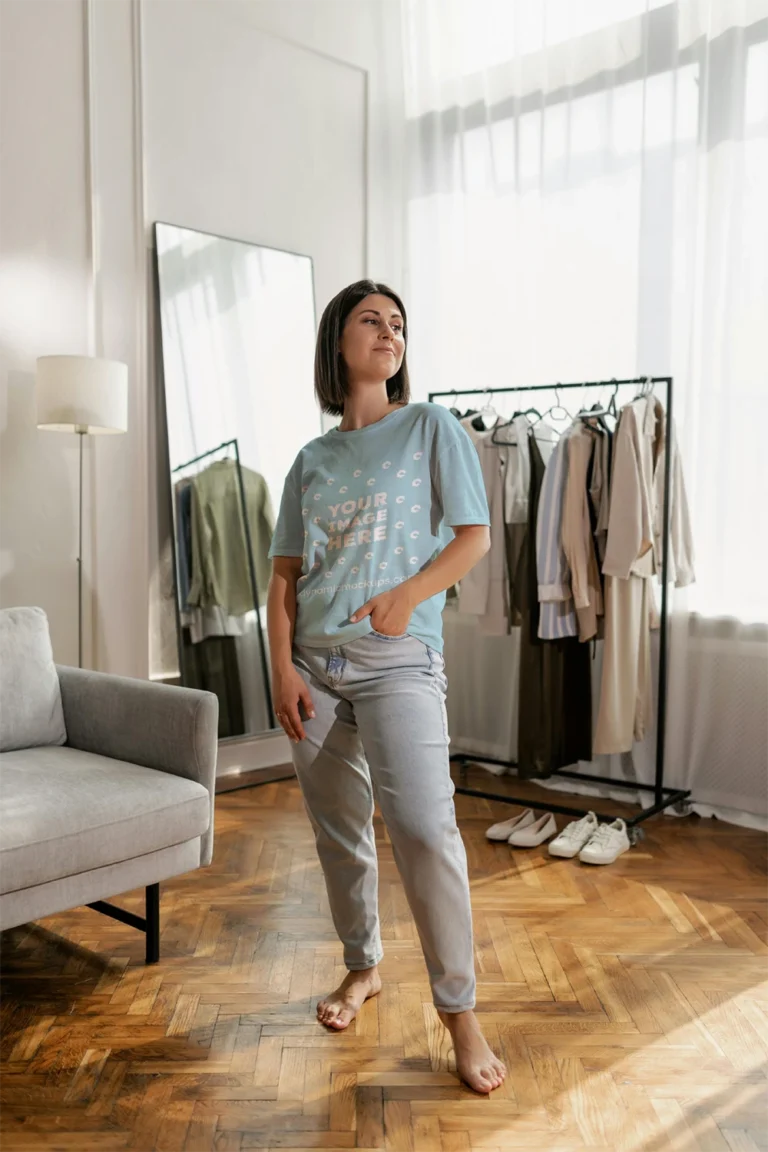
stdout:
<svg viewBox="0 0 768 1152">
<path fill-rule="evenodd" d="M 477 449 L 439 404 L 408 404 L 302 448 L 288 473 L 269 556 L 302 556 L 298 644 L 336 647 L 371 631 L 358 608 L 425 568 L 448 529 L 488 524 Z M 409 635 L 442 651 L 446 593 L 417 606 Z"/>
</svg>

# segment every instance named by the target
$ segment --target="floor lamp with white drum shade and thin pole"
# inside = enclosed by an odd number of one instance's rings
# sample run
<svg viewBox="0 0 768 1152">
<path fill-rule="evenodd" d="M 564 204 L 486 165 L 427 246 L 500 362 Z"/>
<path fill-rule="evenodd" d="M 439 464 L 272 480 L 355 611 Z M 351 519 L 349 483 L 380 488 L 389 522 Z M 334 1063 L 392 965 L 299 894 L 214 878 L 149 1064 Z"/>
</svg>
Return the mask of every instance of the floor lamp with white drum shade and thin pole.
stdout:
<svg viewBox="0 0 768 1152">
<path fill-rule="evenodd" d="M 83 438 L 128 431 L 128 365 L 92 356 L 37 362 L 37 426 L 79 437 L 77 664 L 83 667 Z"/>
</svg>

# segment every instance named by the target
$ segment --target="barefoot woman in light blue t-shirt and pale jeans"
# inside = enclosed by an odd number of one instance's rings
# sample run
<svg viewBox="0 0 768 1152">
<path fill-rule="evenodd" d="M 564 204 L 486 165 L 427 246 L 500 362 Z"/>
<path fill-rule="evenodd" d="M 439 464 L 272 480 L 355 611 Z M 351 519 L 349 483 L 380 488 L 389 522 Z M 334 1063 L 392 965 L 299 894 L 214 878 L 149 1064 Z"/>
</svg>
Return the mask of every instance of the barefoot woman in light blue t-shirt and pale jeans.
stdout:
<svg viewBox="0 0 768 1152">
<path fill-rule="evenodd" d="M 402 302 L 368 280 L 320 321 L 315 392 L 342 420 L 302 449 L 286 480 L 269 553 L 275 712 L 348 968 L 319 1020 L 344 1029 L 381 988 L 375 793 L 458 1073 L 491 1092 L 505 1068 L 473 1013 L 440 654 L 444 592 L 487 552 L 488 508 L 457 420 L 409 403 L 406 339 Z"/>
</svg>

